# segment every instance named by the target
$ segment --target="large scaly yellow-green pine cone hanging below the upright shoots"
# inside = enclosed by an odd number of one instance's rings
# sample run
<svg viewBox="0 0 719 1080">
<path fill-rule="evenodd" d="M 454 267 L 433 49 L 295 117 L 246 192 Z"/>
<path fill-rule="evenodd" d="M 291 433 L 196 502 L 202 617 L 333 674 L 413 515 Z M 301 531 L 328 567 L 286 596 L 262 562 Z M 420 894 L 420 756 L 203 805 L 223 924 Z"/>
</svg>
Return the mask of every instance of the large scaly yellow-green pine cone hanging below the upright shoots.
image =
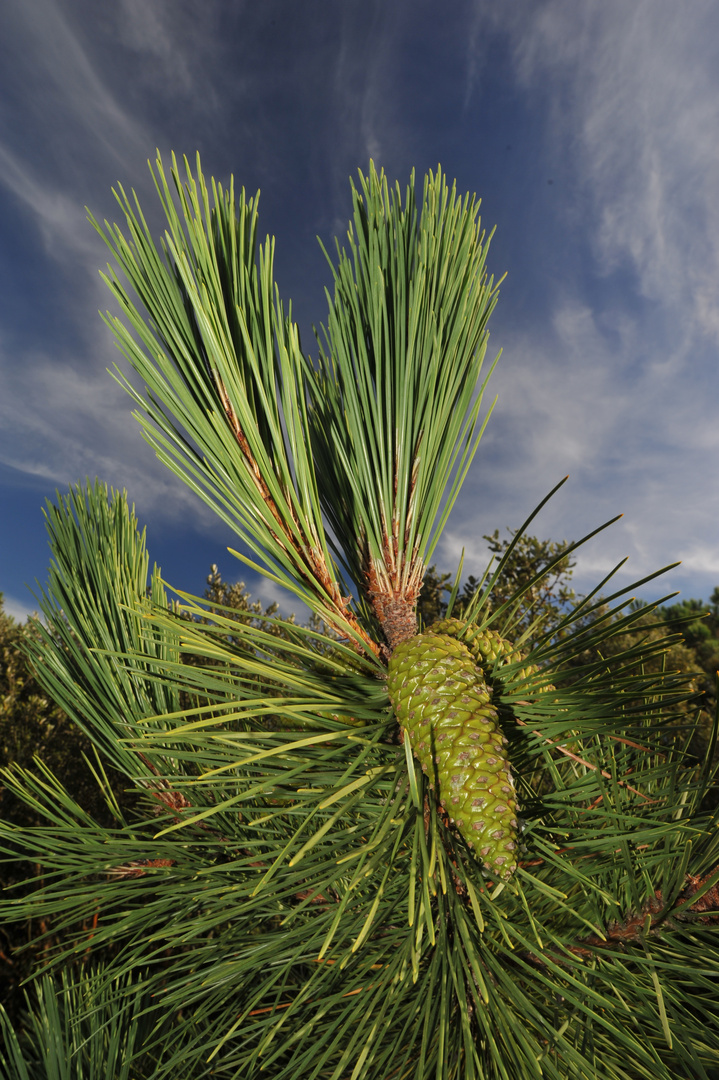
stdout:
<svg viewBox="0 0 719 1080">
<path fill-rule="evenodd" d="M 506 879 L 517 865 L 506 740 L 475 657 L 453 633 L 436 632 L 438 625 L 395 648 L 390 700 L 450 820 L 485 866 Z"/>
</svg>

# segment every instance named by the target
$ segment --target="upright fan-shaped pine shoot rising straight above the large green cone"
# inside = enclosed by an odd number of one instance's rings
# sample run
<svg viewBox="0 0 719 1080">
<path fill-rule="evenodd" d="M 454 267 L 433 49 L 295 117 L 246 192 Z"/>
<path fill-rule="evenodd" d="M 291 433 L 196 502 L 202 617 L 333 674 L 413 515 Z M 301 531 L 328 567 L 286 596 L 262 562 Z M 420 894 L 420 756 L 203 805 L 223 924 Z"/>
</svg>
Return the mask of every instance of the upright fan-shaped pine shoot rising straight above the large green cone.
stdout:
<svg viewBox="0 0 719 1080">
<path fill-rule="evenodd" d="M 323 509 L 391 651 L 417 632 L 422 579 L 476 453 L 497 286 L 478 203 L 413 175 L 403 203 L 370 162 L 337 245 L 327 355 L 307 366 Z M 325 253 L 327 254 L 327 253 Z M 491 374 L 491 373 L 490 373 Z M 443 505 L 444 502 L 444 505 Z"/>
</svg>

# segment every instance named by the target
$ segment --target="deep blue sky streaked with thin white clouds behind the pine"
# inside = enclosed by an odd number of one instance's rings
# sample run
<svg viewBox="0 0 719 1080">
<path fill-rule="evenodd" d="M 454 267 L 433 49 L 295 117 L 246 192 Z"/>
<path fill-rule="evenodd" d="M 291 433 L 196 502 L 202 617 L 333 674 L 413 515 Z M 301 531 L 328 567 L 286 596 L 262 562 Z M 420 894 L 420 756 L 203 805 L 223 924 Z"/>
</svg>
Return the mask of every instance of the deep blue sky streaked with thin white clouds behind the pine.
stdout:
<svg viewBox="0 0 719 1080">
<path fill-rule="evenodd" d="M 0 591 L 45 580 L 41 508 L 85 476 L 126 488 L 166 579 L 211 563 L 266 603 L 233 537 L 154 460 L 106 368 L 100 240 L 147 167 L 202 154 L 254 192 L 306 347 L 325 316 L 315 237 L 342 235 L 369 158 L 404 187 L 442 163 L 483 200 L 506 272 L 499 404 L 436 553 L 483 534 L 575 539 L 588 590 L 624 555 L 641 595 L 719 584 L 719 6 L 715 0 L 5 0 L 0 15 Z M 493 384 L 492 384 L 493 383 Z M 291 600 L 283 602 L 285 610 Z"/>
</svg>

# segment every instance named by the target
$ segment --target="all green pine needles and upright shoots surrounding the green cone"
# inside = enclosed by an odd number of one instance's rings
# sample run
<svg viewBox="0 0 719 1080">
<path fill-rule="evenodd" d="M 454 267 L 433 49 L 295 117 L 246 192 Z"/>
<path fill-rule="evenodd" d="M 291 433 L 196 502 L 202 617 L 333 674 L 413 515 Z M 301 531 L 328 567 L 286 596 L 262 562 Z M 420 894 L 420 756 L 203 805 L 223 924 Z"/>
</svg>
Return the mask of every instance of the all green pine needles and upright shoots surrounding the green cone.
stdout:
<svg viewBox="0 0 719 1080">
<path fill-rule="evenodd" d="M 438 172 L 416 219 L 410 192 L 403 204 L 382 174 L 362 177 L 314 367 L 272 293 L 271 242 L 256 261 L 256 201 L 213 183 L 211 205 L 196 174 L 173 165 L 178 212 L 158 162 L 164 252 L 123 194 L 130 239 L 106 230 L 147 310 L 108 279 L 147 394 L 128 389 L 160 456 L 331 634 L 171 602 L 124 498 L 59 499 L 38 677 L 136 802 L 120 807 L 96 766 L 108 827 L 50 770 L 5 770 L 44 824 L 2 825 L 8 856 L 42 867 L 3 918 L 67 926 L 57 969 L 113 944 L 96 993 L 141 993 L 137 1075 L 157 1080 L 708 1080 L 714 777 L 674 723 L 689 692 L 661 662 L 674 638 L 633 636 L 662 602 L 606 595 L 612 573 L 552 631 L 527 624 L 523 598 L 580 541 L 492 603 L 531 515 L 464 608 L 467 640 L 489 629 L 517 650 L 483 673 L 521 819 L 508 880 L 452 825 L 389 701 L 388 657 L 416 633 L 481 430 L 496 289 L 476 205 Z M 450 615 L 458 591 L 459 575 Z M 625 646 L 608 667 L 610 638 Z M 92 936 L 72 936 L 87 918 Z M 72 1030 L 74 1000 L 68 988 Z"/>
</svg>

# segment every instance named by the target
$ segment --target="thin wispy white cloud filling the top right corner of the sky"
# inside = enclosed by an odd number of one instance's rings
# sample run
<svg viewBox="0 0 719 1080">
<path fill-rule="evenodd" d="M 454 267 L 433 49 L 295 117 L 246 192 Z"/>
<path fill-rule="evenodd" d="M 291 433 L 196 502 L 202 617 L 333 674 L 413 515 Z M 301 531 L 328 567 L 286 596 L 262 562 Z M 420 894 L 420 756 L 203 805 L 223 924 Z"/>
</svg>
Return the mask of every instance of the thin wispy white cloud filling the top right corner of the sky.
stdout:
<svg viewBox="0 0 719 1080">
<path fill-rule="evenodd" d="M 548 0 L 507 15 L 516 70 L 548 106 L 605 273 L 629 266 L 684 349 L 719 343 L 719 10 Z M 502 23 L 502 16 L 499 22 Z"/>
</svg>

